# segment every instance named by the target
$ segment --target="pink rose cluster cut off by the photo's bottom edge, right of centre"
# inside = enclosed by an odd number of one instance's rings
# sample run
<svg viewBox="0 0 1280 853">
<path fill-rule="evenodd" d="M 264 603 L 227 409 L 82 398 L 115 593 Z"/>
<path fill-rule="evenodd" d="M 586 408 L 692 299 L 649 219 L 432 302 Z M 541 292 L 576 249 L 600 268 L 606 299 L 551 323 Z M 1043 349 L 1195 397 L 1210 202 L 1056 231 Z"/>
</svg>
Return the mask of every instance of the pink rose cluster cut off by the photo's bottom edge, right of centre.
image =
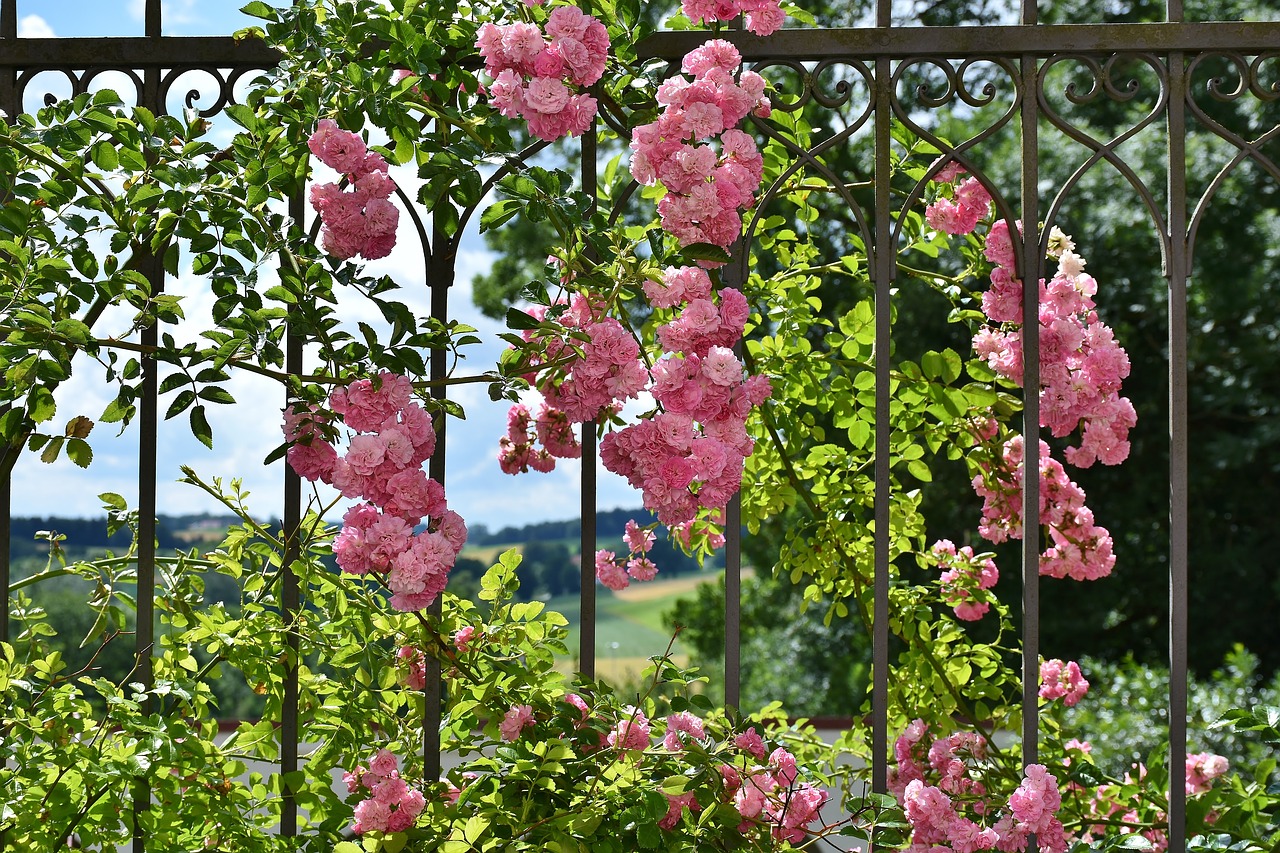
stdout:
<svg viewBox="0 0 1280 853">
<path fill-rule="evenodd" d="M 986 760 L 986 740 L 957 733 L 927 744 L 928 726 L 913 721 L 895 743 L 897 767 L 890 790 L 911 825 L 913 853 L 1025 850 L 1034 833 L 1039 849 L 1066 850 L 1057 811 L 1062 797 L 1043 765 L 1028 765 L 1021 784 L 1000 808 L 974 775 Z M 933 784 L 931 784 L 931 780 Z"/>
</svg>

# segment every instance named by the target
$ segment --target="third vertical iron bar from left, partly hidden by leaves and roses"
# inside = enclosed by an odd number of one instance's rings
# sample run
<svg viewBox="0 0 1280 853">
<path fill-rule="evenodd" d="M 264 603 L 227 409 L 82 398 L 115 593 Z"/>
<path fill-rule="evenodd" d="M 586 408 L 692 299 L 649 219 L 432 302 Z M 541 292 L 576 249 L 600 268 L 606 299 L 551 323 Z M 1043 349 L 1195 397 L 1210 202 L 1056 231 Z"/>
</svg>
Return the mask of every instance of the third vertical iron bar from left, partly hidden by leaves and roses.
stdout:
<svg viewBox="0 0 1280 853">
<path fill-rule="evenodd" d="M 306 216 L 302 193 L 289 196 L 289 219 L 301 229 Z M 289 375 L 302 374 L 302 338 L 289 328 L 284 341 L 284 370 Z M 289 388 L 284 389 L 284 402 L 292 402 Z M 284 565 L 280 566 L 280 611 L 285 625 L 284 684 L 280 702 L 280 835 L 298 834 L 298 802 L 294 785 L 285 781 L 298 770 L 298 631 L 296 619 L 301 608 L 298 576 L 293 564 L 301 556 L 302 532 L 302 478 L 293 466 L 284 465 Z"/>
</svg>

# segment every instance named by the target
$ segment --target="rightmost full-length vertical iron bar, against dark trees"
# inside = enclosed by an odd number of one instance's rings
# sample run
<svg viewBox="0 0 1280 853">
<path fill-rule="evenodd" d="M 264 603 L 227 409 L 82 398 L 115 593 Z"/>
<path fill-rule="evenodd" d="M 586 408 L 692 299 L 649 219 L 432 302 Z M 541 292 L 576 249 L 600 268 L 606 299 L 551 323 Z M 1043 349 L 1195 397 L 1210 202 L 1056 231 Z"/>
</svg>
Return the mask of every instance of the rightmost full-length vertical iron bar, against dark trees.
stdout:
<svg viewBox="0 0 1280 853">
<path fill-rule="evenodd" d="M 1170 13 L 1174 10 L 1170 3 Z M 1181 13 L 1181 4 L 1178 13 Z M 1187 67 L 1169 54 L 1169 849 L 1187 841 Z"/>
</svg>

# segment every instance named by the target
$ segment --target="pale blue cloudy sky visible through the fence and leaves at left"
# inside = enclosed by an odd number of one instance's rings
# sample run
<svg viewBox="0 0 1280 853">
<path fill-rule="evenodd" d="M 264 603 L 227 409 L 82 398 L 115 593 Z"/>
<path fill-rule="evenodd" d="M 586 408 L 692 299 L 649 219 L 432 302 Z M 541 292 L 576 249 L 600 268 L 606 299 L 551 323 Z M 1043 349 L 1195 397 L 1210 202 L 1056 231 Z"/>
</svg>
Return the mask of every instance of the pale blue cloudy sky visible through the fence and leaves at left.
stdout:
<svg viewBox="0 0 1280 853">
<path fill-rule="evenodd" d="M 143 0 L 19 0 L 19 35 L 140 36 L 143 5 Z M 252 23 L 239 14 L 241 5 L 238 0 L 165 0 L 165 33 L 230 33 Z M 47 86 L 56 91 L 55 82 L 51 81 Z M 35 88 L 29 92 L 28 109 L 35 106 L 33 99 L 38 100 L 41 95 Z M 215 126 L 211 133 L 216 142 L 218 136 L 227 134 L 228 131 Z M 406 288 L 406 301 L 425 306 L 428 297 L 421 255 L 408 242 L 408 228 L 402 227 L 401 232 L 401 246 L 390 257 L 370 265 L 370 270 L 390 274 Z M 472 348 L 461 373 L 479 373 L 490 368 L 506 346 L 495 338 L 502 330 L 498 324 L 483 318 L 471 305 L 471 278 L 490 261 L 492 255 L 484 248 L 479 234 L 468 233 L 462 242 L 457 286 L 451 292 L 451 305 L 458 320 L 480 329 L 485 343 Z M 169 288 L 184 295 L 188 318 L 207 315 L 212 300 L 200 279 L 186 274 L 170 282 Z M 349 307 L 360 319 L 376 319 L 376 314 L 369 316 L 367 306 L 353 304 Z M 110 318 L 105 321 L 109 320 Z M 241 405 L 211 407 L 210 421 L 215 434 L 212 451 L 191 438 L 184 416 L 161 421 L 157 476 L 160 512 L 218 510 L 197 489 L 175 483 L 180 464 L 193 466 L 206 479 L 242 478 L 244 488 L 252 492 L 250 506 L 257 515 L 279 512 L 282 469 L 278 464 L 264 467 L 261 462 L 280 439 L 280 392 L 269 380 L 242 377 L 236 379 L 232 393 L 242 401 Z M 506 428 L 507 406 L 489 401 L 483 384 L 462 386 L 451 396 L 462 402 L 467 411 L 467 420 L 452 421 L 448 432 L 445 489 L 452 508 L 461 512 L 468 523 L 490 528 L 579 515 L 581 471 L 576 462 L 562 461 L 550 474 L 531 473 L 518 478 L 502 474 L 495 455 L 498 438 Z M 111 397 L 114 392 L 104 386 L 101 369 L 92 362 L 77 362 L 73 378 L 58 394 L 58 415 L 60 419 L 74 414 L 96 418 Z M 166 402 L 163 401 L 161 406 L 166 406 Z M 90 441 L 95 460 L 87 471 L 67 460 L 44 465 L 28 453 L 14 473 L 13 512 L 23 516 L 99 515 L 101 508 L 96 496 L 101 492 L 118 492 L 132 503 L 137 496 L 137 430 L 129 429 L 116 437 L 110 425 L 102 424 L 95 429 Z M 623 480 L 602 470 L 599 505 L 602 508 L 639 506 L 640 496 Z"/>
</svg>

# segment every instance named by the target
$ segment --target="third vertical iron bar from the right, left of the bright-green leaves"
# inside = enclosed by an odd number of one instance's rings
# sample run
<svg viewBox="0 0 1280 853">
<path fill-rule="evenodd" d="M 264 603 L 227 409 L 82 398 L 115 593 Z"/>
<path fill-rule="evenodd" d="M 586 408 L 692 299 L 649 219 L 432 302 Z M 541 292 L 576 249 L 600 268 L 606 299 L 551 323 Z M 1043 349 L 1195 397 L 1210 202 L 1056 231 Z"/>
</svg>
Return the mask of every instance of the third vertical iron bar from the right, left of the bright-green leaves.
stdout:
<svg viewBox="0 0 1280 853">
<path fill-rule="evenodd" d="M 887 3 L 881 12 L 888 12 Z M 891 288 L 897 269 L 890 218 L 892 177 L 890 60 L 876 60 L 876 569 L 872 606 L 872 790 L 888 792 L 890 346 Z"/>
</svg>

